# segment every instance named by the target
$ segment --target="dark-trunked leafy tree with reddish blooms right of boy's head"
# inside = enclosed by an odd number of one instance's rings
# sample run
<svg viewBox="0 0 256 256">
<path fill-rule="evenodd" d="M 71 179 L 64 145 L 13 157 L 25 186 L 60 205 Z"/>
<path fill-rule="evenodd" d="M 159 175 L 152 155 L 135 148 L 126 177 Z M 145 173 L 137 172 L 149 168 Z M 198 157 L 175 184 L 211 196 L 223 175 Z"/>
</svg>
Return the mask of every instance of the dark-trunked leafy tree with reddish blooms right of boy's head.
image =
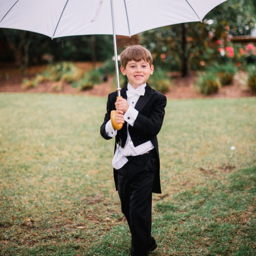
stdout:
<svg viewBox="0 0 256 256">
<path fill-rule="evenodd" d="M 142 33 L 141 43 L 154 56 L 154 63 L 188 75 L 189 69 L 203 68 L 213 53 L 209 47 L 230 35 L 248 35 L 253 29 L 255 1 L 229 0 L 214 8 L 202 23 L 191 22 L 156 28 Z"/>
</svg>

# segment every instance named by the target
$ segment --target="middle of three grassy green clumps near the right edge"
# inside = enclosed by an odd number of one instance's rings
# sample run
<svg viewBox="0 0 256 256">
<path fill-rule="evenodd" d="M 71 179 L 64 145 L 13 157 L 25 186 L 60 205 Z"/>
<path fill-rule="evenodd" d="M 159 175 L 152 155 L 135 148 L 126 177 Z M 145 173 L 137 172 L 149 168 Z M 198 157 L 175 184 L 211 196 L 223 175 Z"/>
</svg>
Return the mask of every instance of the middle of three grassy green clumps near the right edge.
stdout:
<svg viewBox="0 0 256 256">
<path fill-rule="evenodd" d="M 230 85 L 233 82 L 236 68 L 231 63 L 221 65 L 219 65 L 218 63 L 214 63 L 207 68 L 207 71 L 214 73 L 220 80 L 221 85 Z"/>
</svg>

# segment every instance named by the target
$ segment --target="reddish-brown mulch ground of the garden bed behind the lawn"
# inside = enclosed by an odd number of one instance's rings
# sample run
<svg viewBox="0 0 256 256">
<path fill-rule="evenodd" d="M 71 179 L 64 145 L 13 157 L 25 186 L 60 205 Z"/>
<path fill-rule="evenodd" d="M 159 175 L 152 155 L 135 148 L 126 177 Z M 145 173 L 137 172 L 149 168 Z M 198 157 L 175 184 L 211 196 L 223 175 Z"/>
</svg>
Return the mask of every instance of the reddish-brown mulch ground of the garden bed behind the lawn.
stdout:
<svg viewBox="0 0 256 256">
<path fill-rule="evenodd" d="M 83 71 L 92 69 L 91 63 L 76 64 Z M 37 73 L 42 73 L 45 68 L 46 65 L 29 67 L 27 68 L 26 76 L 23 77 L 19 68 L 14 68 L 13 65 L 0 64 L 0 92 L 85 94 L 107 97 L 109 93 L 115 90 L 112 78 L 109 78 L 106 82 L 102 82 L 102 84 L 94 85 L 92 89 L 85 91 L 73 88 L 65 82 L 44 82 L 34 88 L 22 88 L 22 80 L 24 78 L 31 79 Z M 172 72 L 170 76 L 172 78 L 172 84 L 166 93 L 167 98 L 238 98 L 255 96 L 255 94 L 248 92 L 246 88 L 247 75 L 245 72 L 238 72 L 234 77 L 233 84 L 222 87 L 217 94 L 213 94 L 212 96 L 203 96 L 195 88 L 195 72 L 191 72 L 187 77 L 181 77 L 178 72 Z"/>
</svg>

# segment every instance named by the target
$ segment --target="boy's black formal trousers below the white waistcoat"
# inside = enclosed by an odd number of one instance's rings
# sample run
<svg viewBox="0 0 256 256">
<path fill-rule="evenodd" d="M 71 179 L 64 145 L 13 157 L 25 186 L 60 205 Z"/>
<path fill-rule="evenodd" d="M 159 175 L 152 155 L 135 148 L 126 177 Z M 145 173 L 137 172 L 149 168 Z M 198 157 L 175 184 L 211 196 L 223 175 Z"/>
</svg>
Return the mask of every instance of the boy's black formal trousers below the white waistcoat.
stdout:
<svg viewBox="0 0 256 256">
<path fill-rule="evenodd" d="M 131 255 L 143 256 L 154 239 L 151 209 L 157 155 L 153 149 L 127 158 L 128 162 L 118 170 L 118 194 L 131 232 Z"/>
</svg>

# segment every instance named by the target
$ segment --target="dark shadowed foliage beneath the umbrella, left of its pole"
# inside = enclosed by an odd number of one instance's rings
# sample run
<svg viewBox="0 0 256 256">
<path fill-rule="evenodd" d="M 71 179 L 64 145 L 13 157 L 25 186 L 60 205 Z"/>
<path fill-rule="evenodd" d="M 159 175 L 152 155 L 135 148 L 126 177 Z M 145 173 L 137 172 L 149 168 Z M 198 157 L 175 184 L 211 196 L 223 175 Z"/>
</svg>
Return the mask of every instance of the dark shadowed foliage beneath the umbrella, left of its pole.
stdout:
<svg viewBox="0 0 256 256">
<path fill-rule="evenodd" d="M 21 65 L 51 61 L 102 61 L 113 55 L 112 35 L 66 36 L 51 40 L 30 31 L 0 29 L 6 54 L 0 60 L 15 60 Z M 97 51 L 96 51 L 97 49 Z"/>
</svg>

